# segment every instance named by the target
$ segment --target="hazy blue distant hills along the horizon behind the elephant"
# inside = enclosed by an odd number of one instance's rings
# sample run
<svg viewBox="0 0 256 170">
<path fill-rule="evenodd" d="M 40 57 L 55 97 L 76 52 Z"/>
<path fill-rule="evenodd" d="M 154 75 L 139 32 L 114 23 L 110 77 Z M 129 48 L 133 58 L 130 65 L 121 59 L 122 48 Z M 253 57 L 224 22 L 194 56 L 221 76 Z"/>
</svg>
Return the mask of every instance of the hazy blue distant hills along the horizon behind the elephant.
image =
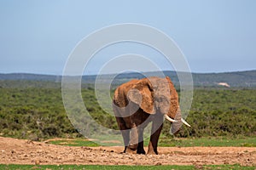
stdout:
<svg viewBox="0 0 256 170">
<path fill-rule="evenodd" d="M 127 82 L 134 78 L 143 78 L 145 76 L 160 76 L 161 72 L 145 72 L 145 73 L 123 73 L 114 78 L 115 84 Z M 177 73 L 175 71 L 164 71 L 165 76 L 171 77 L 172 82 L 178 84 Z M 113 75 L 104 75 L 103 79 L 108 80 Z M 233 71 L 223 73 L 192 73 L 195 86 L 218 86 L 219 82 L 224 82 L 230 87 L 256 87 L 256 70 L 255 71 Z M 44 82 L 61 82 L 61 76 L 38 75 L 27 73 L 0 74 L 0 80 L 6 81 L 44 81 Z M 83 76 L 84 83 L 94 83 L 96 75 Z"/>
</svg>

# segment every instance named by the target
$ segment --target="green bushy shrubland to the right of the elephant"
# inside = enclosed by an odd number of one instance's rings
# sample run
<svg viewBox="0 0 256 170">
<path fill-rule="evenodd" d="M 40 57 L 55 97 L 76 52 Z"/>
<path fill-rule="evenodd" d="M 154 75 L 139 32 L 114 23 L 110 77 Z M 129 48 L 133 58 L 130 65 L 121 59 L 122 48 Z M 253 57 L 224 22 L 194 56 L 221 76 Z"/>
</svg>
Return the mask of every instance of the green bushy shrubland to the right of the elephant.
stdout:
<svg viewBox="0 0 256 170">
<path fill-rule="evenodd" d="M 179 137 L 256 136 L 256 89 L 195 88 L 193 103 Z M 168 124 L 164 132 L 167 134 Z"/>
</svg>

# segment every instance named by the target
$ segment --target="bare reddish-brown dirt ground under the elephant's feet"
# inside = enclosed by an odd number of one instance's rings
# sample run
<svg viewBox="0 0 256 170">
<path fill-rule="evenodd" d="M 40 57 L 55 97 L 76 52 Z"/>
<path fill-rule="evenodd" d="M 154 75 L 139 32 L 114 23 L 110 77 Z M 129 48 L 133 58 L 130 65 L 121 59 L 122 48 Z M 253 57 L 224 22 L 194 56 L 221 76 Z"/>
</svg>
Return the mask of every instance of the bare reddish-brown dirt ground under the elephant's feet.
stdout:
<svg viewBox="0 0 256 170">
<path fill-rule="evenodd" d="M 160 147 L 160 155 L 123 154 L 123 147 L 74 147 L 0 137 L 0 164 L 256 166 L 255 147 Z"/>
</svg>

